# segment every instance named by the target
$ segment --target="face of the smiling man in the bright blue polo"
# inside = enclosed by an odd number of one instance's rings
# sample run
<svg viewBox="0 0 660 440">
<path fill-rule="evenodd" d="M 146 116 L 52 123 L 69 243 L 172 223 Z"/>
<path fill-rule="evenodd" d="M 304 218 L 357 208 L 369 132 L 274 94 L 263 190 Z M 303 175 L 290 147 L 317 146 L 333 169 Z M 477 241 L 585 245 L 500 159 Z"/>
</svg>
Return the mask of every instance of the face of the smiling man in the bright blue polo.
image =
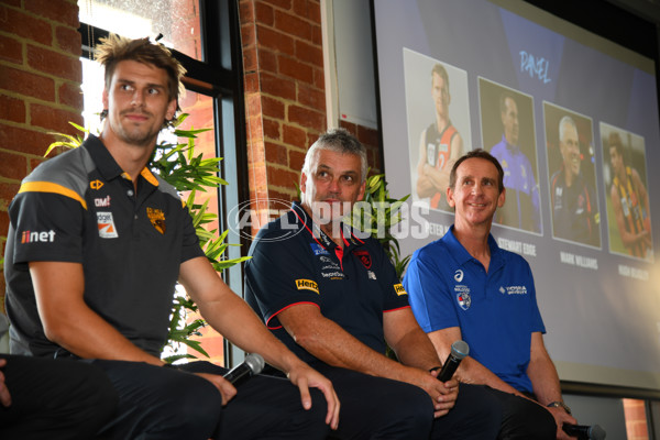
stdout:
<svg viewBox="0 0 660 440">
<path fill-rule="evenodd" d="M 490 161 L 472 157 L 457 168 L 454 188 L 448 188 L 447 200 L 455 209 L 457 224 L 482 224 L 505 201 L 505 191 L 497 186 L 497 168 Z"/>
</svg>

